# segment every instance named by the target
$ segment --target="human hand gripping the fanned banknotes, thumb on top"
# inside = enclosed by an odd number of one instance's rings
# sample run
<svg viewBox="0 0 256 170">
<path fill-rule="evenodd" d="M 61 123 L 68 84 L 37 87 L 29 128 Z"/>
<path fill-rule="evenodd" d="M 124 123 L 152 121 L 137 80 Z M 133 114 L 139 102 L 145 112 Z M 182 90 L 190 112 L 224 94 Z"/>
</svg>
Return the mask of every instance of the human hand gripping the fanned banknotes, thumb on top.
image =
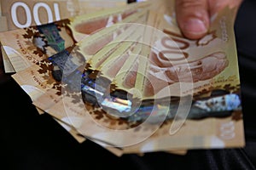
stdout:
<svg viewBox="0 0 256 170">
<path fill-rule="evenodd" d="M 207 34 L 213 14 L 229 5 L 239 7 L 242 0 L 175 0 L 177 24 L 183 35 L 198 39 Z"/>
</svg>

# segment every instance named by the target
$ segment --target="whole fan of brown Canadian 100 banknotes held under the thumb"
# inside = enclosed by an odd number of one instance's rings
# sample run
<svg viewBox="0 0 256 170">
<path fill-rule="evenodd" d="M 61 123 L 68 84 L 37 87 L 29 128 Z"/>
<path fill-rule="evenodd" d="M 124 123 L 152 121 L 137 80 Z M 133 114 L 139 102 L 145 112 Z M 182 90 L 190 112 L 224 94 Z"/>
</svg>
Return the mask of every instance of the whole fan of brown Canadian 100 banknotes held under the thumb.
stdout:
<svg viewBox="0 0 256 170">
<path fill-rule="evenodd" d="M 129 3 L 2 31 L 5 71 L 38 113 L 117 156 L 242 147 L 236 9 L 190 40 L 173 4 Z"/>
</svg>

